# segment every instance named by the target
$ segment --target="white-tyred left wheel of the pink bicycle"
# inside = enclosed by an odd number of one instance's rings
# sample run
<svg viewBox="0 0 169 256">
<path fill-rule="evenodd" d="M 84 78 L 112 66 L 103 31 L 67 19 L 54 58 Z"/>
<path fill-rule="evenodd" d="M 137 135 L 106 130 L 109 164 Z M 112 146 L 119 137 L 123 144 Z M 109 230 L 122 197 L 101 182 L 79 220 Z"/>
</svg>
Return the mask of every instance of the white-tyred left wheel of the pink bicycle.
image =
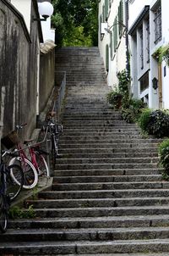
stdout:
<svg viewBox="0 0 169 256">
<path fill-rule="evenodd" d="M 13 158 L 10 160 L 9 164 L 19 164 L 24 172 L 24 184 L 23 187 L 25 189 L 31 189 L 37 185 L 38 182 L 38 173 L 35 170 L 34 165 L 30 162 L 29 159 L 24 159 L 25 163 L 20 157 Z M 25 170 L 26 169 L 26 170 Z M 11 176 L 14 181 L 18 182 L 17 178 L 14 176 L 13 171 L 11 171 Z"/>
</svg>

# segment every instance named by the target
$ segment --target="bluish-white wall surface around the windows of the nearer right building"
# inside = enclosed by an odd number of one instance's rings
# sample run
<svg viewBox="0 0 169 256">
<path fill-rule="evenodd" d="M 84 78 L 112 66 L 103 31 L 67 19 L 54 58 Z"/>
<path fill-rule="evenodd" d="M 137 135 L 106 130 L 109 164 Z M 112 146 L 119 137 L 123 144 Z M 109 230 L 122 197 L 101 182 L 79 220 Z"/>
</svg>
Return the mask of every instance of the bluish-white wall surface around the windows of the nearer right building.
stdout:
<svg viewBox="0 0 169 256">
<path fill-rule="evenodd" d="M 150 108 L 165 108 L 169 107 L 169 100 L 167 95 L 169 93 L 169 75 L 168 67 L 166 67 L 165 62 L 161 65 L 158 64 L 157 60 L 153 57 L 155 51 L 169 43 L 169 17 L 168 17 L 168 8 L 169 2 L 165 0 L 130 0 L 129 2 L 129 19 L 128 27 L 129 30 L 134 26 L 135 21 L 138 19 L 140 12 L 143 10 L 145 5 L 150 7 L 148 14 L 146 14 L 143 19 L 141 19 L 136 25 L 135 30 L 131 33 L 130 36 L 130 47 L 131 47 L 131 88 L 134 93 L 134 97 L 139 97 L 144 99 L 144 102 L 148 103 Z M 161 38 L 158 41 L 155 41 L 155 10 L 160 4 L 161 6 Z M 148 15 L 148 17 L 147 17 Z M 146 19 L 149 18 L 150 25 L 150 61 L 146 62 L 147 54 L 147 25 Z M 139 30 L 140 26 L 143 25 L 143 53 L 144 53 L 144 67 L 140 69 L 140 35 Z M 140 92 L 140 81 L 142 77 L 148 72 L 149 74 L 149 86 Z M 153 88 L 153 79 L 158 80 L 157 89 Z"/>
</svg>

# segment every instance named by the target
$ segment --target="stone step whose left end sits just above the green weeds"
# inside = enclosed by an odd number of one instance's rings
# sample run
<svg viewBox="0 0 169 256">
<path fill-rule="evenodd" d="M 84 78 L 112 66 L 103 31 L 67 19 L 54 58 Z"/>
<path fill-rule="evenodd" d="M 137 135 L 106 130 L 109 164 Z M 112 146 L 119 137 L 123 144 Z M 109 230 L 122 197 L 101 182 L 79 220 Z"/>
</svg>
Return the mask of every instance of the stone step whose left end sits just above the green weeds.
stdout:
<svg viewBox="0 0 169 256">
<path fill-rule="evenodd" d="M 95 207 L 124 207 L 124 206 L 153 206 L 169 204 L 169 198 L 87 198 L 87 199 L 37 199 L 28 200 L 26 206 L 34 209 L 50 208 L 95 208 Z"/>
</svg>

